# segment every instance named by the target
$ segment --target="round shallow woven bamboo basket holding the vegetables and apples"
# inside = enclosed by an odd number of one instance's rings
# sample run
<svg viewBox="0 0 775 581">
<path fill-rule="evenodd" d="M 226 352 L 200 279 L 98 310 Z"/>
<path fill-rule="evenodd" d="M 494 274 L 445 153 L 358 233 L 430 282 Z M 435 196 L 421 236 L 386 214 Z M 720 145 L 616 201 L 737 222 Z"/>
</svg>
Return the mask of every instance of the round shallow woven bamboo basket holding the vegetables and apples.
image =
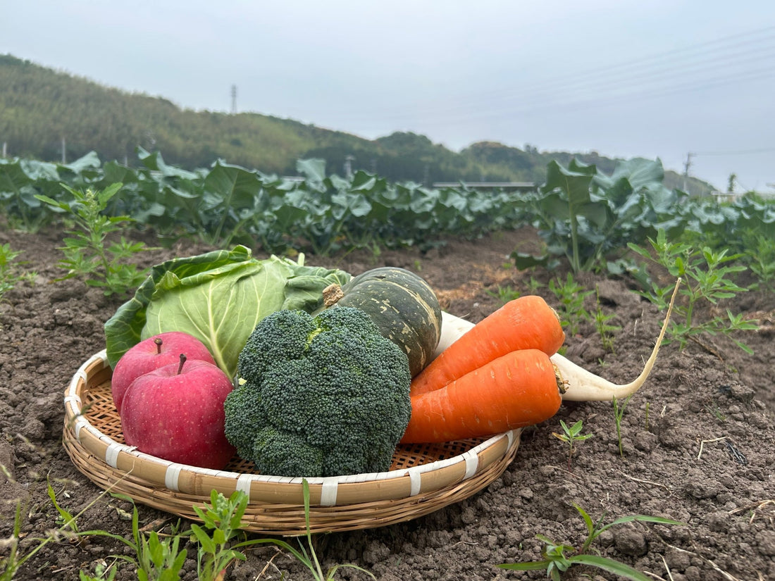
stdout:
<svg viewBox="0 0 775 581">
<path fill-rule="evenodd" d="M 124 443 L 113 404 L 105 351 L 91 356 L 64 394 L 63 442 L 74 465 L 105 490 L 198 521 L 216 490 L 248 494 L 243 528 L 267 535 L 307 530 L 302 479 L 255 473 L 235 457 L 224 470 L 168 462 Z M 456 503 L 487 486 L 515 457 L 520 430 L 488 439 L 399 445 L 383 473 L 308 478 L 313 533 L 352 531 L 408 521 Z"/>
</svg>

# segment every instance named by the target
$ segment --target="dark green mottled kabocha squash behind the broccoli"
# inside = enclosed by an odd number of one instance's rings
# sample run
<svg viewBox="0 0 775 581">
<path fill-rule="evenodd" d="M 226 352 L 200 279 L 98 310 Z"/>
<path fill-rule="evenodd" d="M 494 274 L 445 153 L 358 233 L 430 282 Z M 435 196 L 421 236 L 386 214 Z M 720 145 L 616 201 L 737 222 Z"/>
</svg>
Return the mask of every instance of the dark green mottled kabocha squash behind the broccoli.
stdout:
<svg viewBox="0 0 775 581">
<path fill-rule="evenodd" d="M 384 337 L 401 347 L 409 371 L 430 363 L 441 337 L 441 306 L 429 284 L 403 268 L 381 266 L 323 291 L 323 305 L 354 307 L 371 318 Z"/>
</svg>

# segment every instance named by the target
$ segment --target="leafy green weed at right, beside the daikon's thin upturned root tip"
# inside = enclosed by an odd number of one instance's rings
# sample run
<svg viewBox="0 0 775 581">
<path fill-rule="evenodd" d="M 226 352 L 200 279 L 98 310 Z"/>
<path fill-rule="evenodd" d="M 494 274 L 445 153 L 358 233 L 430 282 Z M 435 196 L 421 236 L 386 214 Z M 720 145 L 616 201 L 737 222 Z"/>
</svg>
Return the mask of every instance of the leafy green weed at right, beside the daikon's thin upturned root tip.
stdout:
<svg viewBox="0 0 775 581">
<path fill-rule="evenodd" d="M 678 342 L 683 350 L 689 341 L 700 342 L 701 335 L 720 334 L 729 337 L 743 351 L 752 353 L 748 346 L 733 335 L 739 331 L 755 330 L 757 326 L 754 321 L 742 315 L 733 315 L 729 308 L 726 309 L 726 316 L 716 315 L 704 321 L 694 316 L 698 304 L 708 302 L 717 305 L 719 301 L 734 298 L 748 290 L 732 280 L 735 273 L 746 270 L 746 266 L 735 263 L 741 255 L 728 255 L 727 249 L 715 251 L 708 246 L 695 248 L 685 242 L 667 242 L 667 235 L 661 229 L 656 239 L 649 238 L 649 243 L 653 254 L 649 249 L 636 244 L 631 243 L 629 247 L 649 262 L 662 266 L 671 276 L 685 281 L 679 290 L 683 301 L 675 305 L 667 339 Z M 651 285 L 650 290 L 641 291 L 640 294 L 661 310 L 667 308 L 673 284 L 660 286 L 652 282 Z"/>
</svg>

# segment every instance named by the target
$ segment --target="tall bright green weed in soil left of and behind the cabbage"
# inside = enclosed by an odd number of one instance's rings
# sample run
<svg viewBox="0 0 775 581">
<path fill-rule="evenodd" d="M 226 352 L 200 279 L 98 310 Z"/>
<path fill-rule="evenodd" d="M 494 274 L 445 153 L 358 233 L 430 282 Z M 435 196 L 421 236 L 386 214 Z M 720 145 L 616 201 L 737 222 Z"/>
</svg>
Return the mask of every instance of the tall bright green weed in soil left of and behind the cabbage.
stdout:
<svg viewBox="0 0 775 581">
<path fill-rule="evenodd" d="M 119 192 L 122 184 L 116 183 L 102 191 L 76 190 L 65 184 L 72 201 L 57 201 L 44 195 L 37 195 L 40 201 L 51 208 L 66 212 L 77 229 L 68 230 L 71 237 L 64 239 L 60 249 L 64 259 L 60 266 L 67 274 L 58 280 L 79 278 L 90 287 L 101 287 L 106 295 L 124 294 L 140 284 L 145 278 L 143 270 L 127 260 L 146 250 L 143 242 L 129 242 L 123 236 L 108 246 L 108 235 L 119 232 L 122 224 L 133 222 L 127 216 L 105 215 L 110 199 Z"/>
</svg>

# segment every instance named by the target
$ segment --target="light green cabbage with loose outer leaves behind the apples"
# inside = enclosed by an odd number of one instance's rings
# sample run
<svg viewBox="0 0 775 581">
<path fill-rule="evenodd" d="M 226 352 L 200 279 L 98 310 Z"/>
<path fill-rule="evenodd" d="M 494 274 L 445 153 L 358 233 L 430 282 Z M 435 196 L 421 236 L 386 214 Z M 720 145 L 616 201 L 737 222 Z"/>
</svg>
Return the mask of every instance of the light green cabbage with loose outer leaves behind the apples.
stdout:
<svg viewBox="0 0 775 581">
<path fill-rule="evenodd" d="M 168 331 L 194 335 L 215 363 L 235 376 L 237 359 L 258 321 L 281 309 L 312 312 L 329 284 L 350 274 L 271 256 L 257 260 L 246 246 L 157 264 L 105 322 L 108 363 L 143 339 Z"/>
</svg>

